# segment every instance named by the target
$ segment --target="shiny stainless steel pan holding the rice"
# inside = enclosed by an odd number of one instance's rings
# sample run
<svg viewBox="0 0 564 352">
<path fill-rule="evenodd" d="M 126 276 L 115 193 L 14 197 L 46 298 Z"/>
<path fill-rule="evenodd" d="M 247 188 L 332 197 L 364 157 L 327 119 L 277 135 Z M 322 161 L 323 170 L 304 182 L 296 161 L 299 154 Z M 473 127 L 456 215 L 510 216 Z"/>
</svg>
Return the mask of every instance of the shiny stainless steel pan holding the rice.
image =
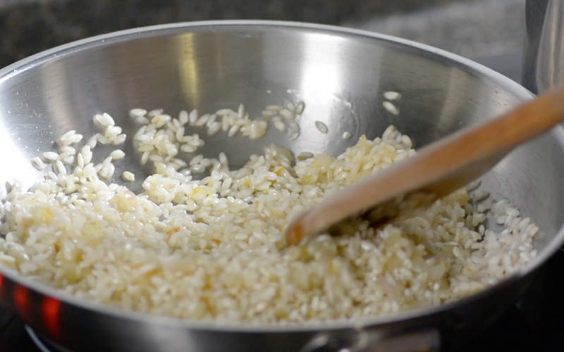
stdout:
<svg viewBox="0 0 564 352">
<path fill-rule="evenodd" d="M 382 106 L 389 90 L 402 93 L 399 115 Z M 374 138 L 390 124 L 421 147 L 532 96 L 459 56 L 371 32 L 264 21 L 127 30 L 59 46 L 0 70 L 0 162 L 6 165 L 0 181 L 16 178 L 27 186 L 38 180 L 30 158 L 67 130 L 91 135 L 92 115 L 103 111 L 130 134 L 133 107 L 177 113 L 244 102 L 256 114 L 289 99 L 306 101 L 302 118 L 329 126 L 321 136 L 304 129 L 295 141 L 273 133 L 254 142 L 214 137 L 207 143 L 204 153 L 228 151 L 236 164 L 272 142 L 294 153 L 335 155 L 360 134 Z M 354 132 L 353 138 L 342 139 L 343 130 Z M 142 172 L 133 159 L 125 168 Z M 6 268 L 0 268 L 0 300 L 43 337 L 73 351 L 448 349 L 452 337 L 476 333 L 501 315 L 563 244 L 563 179 L 562 127 L 517 149 L 483 178 L 485 189 L 509 197 L 540 225 L 537 258 L 494 287 L 439 307 L 319 325 L 212 325 L 99 306 Z"/>
</svg>

